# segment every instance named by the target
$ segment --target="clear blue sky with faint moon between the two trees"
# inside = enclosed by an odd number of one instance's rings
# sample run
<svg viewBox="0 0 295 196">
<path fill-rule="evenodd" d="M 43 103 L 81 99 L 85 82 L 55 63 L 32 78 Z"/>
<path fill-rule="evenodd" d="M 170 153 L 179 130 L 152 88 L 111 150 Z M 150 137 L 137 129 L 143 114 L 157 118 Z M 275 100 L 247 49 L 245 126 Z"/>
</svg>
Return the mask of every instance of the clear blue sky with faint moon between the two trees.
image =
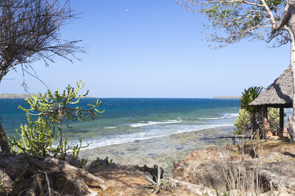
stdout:
<svg viewBox="0 0 295 196">
<path fill-rule="evenodd" d="M 87 3 L 85 3 L 87 2 Z M 89 95 L 98 98 L 211 98 L 240 95 L 250 86 L 270 85 L 290 63 L 289 43 L 267 48 L 265 42 L 243 40 L 219 50 L 201 41 L 199 14 L 174 0 L 71 1 L 83 18 L 61 30 L 62 38 L 83 41 L 82 62 L 55 58 L 45 68 L 33 64 L 39 78 L 54 91 L 81 79 Z M 22 73 L 10 71 L 0 93 L 25 93 Z M 47 87 L 32 76 L 30 93 Z"/>
</svg>

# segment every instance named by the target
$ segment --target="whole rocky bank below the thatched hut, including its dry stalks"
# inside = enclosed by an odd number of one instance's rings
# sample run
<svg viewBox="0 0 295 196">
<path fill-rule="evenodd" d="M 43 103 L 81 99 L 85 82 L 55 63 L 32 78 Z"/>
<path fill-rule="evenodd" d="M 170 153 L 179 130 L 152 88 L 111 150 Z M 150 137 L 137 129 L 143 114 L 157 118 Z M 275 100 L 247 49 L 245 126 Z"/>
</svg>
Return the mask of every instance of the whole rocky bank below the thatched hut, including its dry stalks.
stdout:
<svg viewBox="0 0 295 196">
<path fill-rule="evenodd" d="M 215 185 L 219 195 L 227 188 L 230 195 L 277 196 L 279 191 L 294 195 L 295 159 L 289 153 L 294 145 L 288 141 L 251 140 L 225 148 L 196 149 L 174 163 L 173 179 L 210 189 Z"/>
</svg>

